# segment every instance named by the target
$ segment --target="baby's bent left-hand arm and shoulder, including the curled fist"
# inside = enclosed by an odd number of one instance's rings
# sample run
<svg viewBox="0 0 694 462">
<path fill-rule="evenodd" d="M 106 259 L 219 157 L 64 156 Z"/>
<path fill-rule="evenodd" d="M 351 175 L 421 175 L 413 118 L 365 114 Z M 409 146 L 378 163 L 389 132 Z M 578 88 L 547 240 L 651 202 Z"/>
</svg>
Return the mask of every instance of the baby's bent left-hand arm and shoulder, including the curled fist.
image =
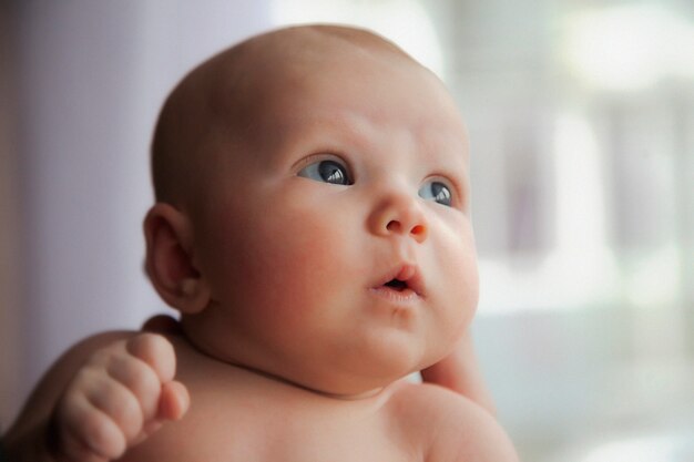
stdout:
<svg viewBox="0 0 694 462">
<path fill-rule="evenodd" d="M 106 333 L 65 353 L 4 437 L 13 462 L 119 458 L 188 405 L 173 380 L 171 343 L 153 333 Z"/>
</svg>

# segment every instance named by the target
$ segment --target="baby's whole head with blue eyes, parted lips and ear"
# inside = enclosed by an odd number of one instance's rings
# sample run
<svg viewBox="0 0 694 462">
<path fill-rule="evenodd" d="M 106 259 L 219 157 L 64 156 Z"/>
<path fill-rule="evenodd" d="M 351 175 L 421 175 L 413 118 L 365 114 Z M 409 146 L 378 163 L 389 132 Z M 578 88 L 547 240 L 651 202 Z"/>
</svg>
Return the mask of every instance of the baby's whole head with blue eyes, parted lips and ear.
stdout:
<svg viewBox="0 0 694 462">
<path fill-rule="evenodd" d="M 300 27 L 203 63 L 153 143 L 147 271 L 188 339 L 333 394 L 450 352 L 477 305 L 467 135 L 370 32 Z"/>
</svg>

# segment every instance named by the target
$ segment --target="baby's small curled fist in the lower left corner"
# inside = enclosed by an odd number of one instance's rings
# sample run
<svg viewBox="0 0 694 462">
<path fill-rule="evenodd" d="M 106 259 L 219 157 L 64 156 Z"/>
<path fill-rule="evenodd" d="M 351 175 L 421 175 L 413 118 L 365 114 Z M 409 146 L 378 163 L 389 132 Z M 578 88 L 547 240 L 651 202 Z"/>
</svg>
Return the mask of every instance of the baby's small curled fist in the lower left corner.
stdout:
<svg viewBox="0 0 694 462">
<path fill-rule="evenodd" d="M 58 401 L 50 452 L 61 462 L 110 461 L 182 418 L 190 398 L 175 368 L 172 345 L 154 333 L 96 350 Z"/>
</svg>

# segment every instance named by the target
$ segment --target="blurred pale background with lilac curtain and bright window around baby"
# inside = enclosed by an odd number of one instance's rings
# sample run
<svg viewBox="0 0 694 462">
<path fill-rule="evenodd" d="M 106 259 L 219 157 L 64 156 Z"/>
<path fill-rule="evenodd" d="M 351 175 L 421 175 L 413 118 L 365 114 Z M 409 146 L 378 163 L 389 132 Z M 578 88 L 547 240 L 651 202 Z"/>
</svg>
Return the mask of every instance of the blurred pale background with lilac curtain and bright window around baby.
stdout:
<svg viewBox="0 0 694 462">
<path fill-rule="evenodd" d="M 0 427 L 71 343 L 166 310 L 141 236 L 166 93 L 312 21 L 391 38 L 459 103 L 473 330 L 521 458 L 694 460 L 688 0 L 0 2 Z"/>
</svg>

